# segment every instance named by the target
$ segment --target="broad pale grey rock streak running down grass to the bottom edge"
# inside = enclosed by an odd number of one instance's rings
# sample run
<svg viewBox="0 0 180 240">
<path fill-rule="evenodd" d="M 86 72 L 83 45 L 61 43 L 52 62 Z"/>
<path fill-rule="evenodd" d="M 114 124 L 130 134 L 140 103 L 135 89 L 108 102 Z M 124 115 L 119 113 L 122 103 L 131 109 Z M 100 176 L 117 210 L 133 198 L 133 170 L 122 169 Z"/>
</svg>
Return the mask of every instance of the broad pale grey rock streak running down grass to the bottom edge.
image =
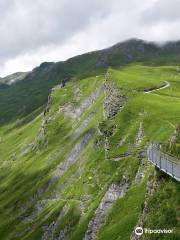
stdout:
<svg viewBox="0 0 180 240">
<path fill-rule="evenodd" d="M 102 224 L 108 215 L 109 210 L 113 204 L 122 198 L 127 192 L 129 187 L 128 180 L 124 177 L 119 184 L 112 184 L 108 191 L 105 193 L 99 207 L 95 212 L 95 217 L 89 222 L 88 229 L 85 233 L 84 240 L 91 240 L 96 237 Z"/>
</svg>

